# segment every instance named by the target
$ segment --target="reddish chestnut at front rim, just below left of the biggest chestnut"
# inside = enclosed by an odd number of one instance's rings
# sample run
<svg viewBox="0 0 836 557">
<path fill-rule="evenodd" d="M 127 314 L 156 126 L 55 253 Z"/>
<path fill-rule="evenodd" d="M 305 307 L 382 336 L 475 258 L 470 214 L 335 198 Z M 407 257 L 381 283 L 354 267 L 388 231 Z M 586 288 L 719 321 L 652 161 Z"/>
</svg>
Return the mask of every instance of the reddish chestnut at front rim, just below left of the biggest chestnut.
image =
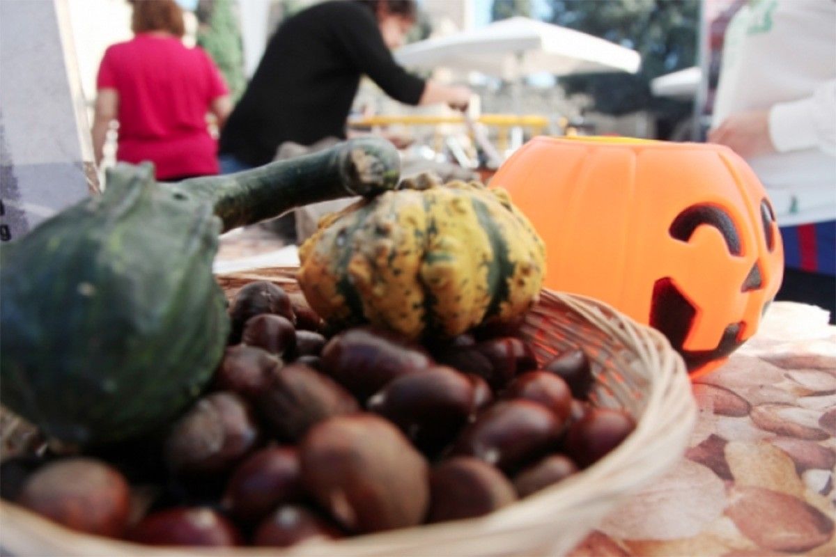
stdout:
<svg viewBox="0 0 836 557">
<path fill-rule="evenodd" d="M 288 547 L 313 539 L 341 538 L 342 533 L 328 520 L 309 509 L 286 504 L 275 509 L 256 529 L 253 544 Z"/>
</svg>

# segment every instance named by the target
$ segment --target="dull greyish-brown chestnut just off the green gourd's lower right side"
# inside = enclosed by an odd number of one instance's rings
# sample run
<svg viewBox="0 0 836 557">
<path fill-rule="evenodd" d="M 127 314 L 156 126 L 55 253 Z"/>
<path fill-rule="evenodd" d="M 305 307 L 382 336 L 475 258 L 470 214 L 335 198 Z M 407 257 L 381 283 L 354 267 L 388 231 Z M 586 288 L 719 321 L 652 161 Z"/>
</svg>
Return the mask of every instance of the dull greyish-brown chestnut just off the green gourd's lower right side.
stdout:
<svg viewBox="0 0 836 557">
<path fill-rule="evenodd" d="M 247 402 L 234 392 L 212 392 L 174 423 L 163 452 L 172 472 L 207 475 L 232 468 L 259 440 Z"/>
</svg>

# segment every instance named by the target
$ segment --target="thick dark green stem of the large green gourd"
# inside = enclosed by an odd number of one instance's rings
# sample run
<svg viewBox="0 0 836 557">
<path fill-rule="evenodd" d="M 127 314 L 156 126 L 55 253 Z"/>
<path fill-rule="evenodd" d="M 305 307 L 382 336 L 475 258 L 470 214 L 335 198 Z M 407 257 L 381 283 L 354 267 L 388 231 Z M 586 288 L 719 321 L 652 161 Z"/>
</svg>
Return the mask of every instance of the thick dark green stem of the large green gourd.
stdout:
<svg viewBox="0 0 836 557">
<path fill-rule="evenodd" d="M 232 175 L 191 178 L 168 186 L 212 203 L 226 232 L 310 203 L 378 195 L 395 189 L 399 178 L 395 147 L 385 139 L 368 137 Z"/>
</svg>

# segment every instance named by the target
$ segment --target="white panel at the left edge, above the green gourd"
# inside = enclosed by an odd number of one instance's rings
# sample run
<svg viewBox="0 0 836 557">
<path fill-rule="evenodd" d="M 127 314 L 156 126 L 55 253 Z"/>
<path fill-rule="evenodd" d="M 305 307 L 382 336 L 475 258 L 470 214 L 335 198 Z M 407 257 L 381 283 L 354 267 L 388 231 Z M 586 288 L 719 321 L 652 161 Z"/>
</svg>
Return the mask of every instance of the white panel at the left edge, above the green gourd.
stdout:
<svg viewBox="0 0 836 557">
<path fill-rule="evenodd" d="M 93 149 L 66 8 L 66 0 L 0 0 L 4 240 L 89 195 Z"/>
</svg>

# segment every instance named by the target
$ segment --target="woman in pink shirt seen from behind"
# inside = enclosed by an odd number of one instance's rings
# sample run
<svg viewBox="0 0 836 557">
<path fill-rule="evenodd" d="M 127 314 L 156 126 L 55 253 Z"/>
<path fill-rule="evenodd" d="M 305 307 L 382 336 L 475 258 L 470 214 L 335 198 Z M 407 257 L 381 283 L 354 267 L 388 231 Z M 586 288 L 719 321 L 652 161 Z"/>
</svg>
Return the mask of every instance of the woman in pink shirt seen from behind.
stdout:
<svg viewBox="0 0 836 557">
<path fill-rule="evenodd" d="M 174 0 L 133 4 L 135 37 L 110 46 L 99 66 L 96 163 L 110 121 L 118 120 L 116 160 L 150 160 L 157 180 L 217 174 L 217 140 L 206 114 L 215 114 L 220 128 L 232 109 L 221 73 L 201 48 L 182 43 L 183 13 Z"/>
</svg>

